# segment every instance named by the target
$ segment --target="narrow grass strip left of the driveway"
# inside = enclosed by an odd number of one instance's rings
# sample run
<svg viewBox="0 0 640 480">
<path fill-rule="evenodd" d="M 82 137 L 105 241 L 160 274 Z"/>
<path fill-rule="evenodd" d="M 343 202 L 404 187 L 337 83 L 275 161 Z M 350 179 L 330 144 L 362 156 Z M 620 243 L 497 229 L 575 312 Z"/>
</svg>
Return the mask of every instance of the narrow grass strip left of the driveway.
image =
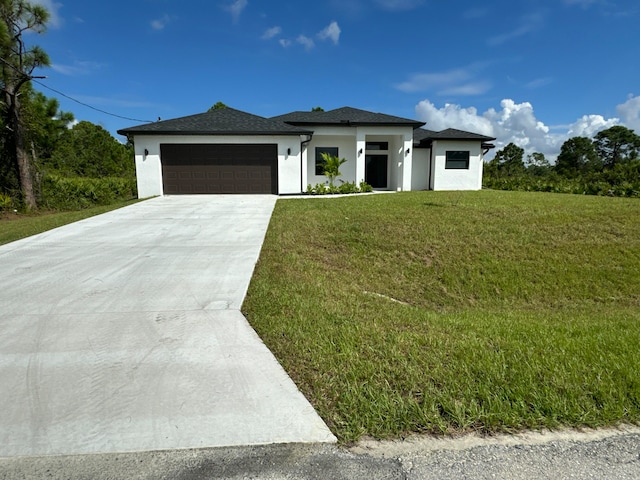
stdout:
<svg viewBox="0 0 640 480">
<path fill-rule="evenodd" d="M 40 212 L 19 215 L 2 214 L 0 212 L 0 245 L 93 217 L 94 215 L 100 215 L 110 210 L 131 205 L 137 201 L 127 200 L 71 212 Z"/>
</svg>

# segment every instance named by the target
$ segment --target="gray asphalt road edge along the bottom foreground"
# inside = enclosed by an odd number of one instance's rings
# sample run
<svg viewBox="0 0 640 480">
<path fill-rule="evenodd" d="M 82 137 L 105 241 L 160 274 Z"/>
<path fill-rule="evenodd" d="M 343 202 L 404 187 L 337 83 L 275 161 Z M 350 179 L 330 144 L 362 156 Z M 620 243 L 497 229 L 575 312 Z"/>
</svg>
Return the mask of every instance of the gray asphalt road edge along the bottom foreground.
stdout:
<svg viewBox="0 0 640 480">
<path fill-rule="evenodd" d="M 0 479 L 640 479 L 640 428 L 0 459 Z"/>
</svg>

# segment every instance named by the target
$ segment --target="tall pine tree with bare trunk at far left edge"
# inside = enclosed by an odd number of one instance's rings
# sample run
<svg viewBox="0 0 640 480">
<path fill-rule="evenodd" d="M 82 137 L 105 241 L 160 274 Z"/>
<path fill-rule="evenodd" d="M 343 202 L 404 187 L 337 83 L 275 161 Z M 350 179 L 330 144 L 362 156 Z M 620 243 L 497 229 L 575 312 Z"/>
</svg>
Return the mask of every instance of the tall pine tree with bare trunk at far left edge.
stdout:
<svg viewBox="0 0 640 480">
<path fill-rule="evenodd" d="M 28 209 L 36 208 L 36 197 L 19 95 L 22 87 L 34 78 L 33 71 L 49 65 L 49 57 L 40 47 L 27 47 L 23 35 L 43 33 L 48 19 L 49 12 L 41 5 L 24 0 L 0 0 L 0 83 L 5 100 L 5 127 L 10 132 L 7 150 L 12 154 Z"/>
</svg>

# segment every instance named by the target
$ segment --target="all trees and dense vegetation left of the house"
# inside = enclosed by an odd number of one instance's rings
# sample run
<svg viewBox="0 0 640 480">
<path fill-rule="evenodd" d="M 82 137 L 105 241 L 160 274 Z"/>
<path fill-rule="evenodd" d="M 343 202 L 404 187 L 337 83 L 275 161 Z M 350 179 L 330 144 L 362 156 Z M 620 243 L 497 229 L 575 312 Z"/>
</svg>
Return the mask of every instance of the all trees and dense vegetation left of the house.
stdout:
<svg viewBox="0 0 640 480">
<path fill-rule="evenodd" d="M 47 54 L 25 40 L 49 14 L 35 2 L 0 0 L 0 212 L 76 209 L 135 196 L 131 145 L 98 125 L 75 123 L 33 89 Z"/>
</svg>

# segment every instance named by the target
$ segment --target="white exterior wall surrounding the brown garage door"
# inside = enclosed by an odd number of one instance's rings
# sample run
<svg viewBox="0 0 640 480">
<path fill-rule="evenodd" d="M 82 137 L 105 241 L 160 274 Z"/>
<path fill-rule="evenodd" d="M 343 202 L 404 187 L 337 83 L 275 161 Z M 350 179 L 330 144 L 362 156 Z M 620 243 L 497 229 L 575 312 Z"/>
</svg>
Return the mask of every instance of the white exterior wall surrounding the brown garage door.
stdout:
<svg viewBox="0 0 640 480">
<path fill-rule="evenodd" d="M 256 144 L 269 143 L 278 145 L 278 193 L 300 193 L 302 191 L 299 136 L 208 136 L 208 135 L 135 135 L 136 177 L 138 197 L 147 198 L 163 195 L 162 163 L 160 161 L 160 145 L 174 144 Z M 148 150 L 149 154 L 144 155 Z M 291 154 L 287 154 L 291 149 Z M 306 188 L 306 185 L 305 185 Z"/>
</svg>

